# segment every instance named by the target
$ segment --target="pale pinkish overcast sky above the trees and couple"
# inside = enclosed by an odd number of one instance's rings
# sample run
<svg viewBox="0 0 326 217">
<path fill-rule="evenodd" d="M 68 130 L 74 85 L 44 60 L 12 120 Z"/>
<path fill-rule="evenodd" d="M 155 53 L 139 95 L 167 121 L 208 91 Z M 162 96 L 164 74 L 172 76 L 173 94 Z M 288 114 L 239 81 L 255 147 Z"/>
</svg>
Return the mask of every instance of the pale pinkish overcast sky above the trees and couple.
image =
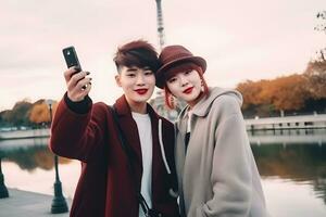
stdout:
<svg viewBox="0 0 326 217">
<path fill-rule="evenodd" d="M 208 61 L 210 86 L 302 73 L 326 35 L 313 30 L 325 0 L 162 0 L 166 44 Z M 117 46 L 146 39 L 159 49 L 154 0 L 1 0 L 0 111 L 25 98 L 60 100 L 62 48 L 75 46 L 91 73 L 93 101 L 113 103 Z"/>
</svg>

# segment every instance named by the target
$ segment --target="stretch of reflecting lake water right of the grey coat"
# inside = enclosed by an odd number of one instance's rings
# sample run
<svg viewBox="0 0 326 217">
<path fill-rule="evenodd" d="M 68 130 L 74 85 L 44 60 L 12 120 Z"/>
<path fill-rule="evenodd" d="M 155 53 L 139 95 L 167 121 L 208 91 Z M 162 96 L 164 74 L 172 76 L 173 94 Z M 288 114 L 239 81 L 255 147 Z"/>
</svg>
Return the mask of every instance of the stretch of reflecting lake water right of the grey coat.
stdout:
<svg viewBox="0 0 326 217">
<path fill-rule="evenodd" d="M 249 132 L 275 216 L 326 216 L 326 129 Z"/>
</svg>

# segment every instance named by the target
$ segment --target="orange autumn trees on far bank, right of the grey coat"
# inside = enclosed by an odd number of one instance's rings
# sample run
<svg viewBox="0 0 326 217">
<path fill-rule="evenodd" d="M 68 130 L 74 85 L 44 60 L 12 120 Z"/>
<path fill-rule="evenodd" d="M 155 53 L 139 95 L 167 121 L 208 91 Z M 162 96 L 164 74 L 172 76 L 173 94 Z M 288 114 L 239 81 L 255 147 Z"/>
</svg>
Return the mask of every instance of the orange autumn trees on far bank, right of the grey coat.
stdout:
<svg viewBox="0 0 326 217">
<path fill-rule="evenodd" d="M 244 116 L 326 112 L 326 61 L 312 61 L 303 74 L 272 80 L 247 80 L 237 86 Z"/>
</svg>

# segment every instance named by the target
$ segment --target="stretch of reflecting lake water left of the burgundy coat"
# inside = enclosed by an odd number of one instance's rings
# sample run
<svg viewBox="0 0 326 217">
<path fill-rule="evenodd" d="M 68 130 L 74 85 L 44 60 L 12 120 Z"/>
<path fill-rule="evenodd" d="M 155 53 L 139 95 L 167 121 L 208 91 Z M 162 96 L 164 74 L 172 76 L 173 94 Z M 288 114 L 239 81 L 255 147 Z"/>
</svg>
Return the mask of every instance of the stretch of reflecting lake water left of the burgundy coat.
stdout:
<svg viewBox="0 0 326 217">
<path fill-rule="evenodd" d="M 0 157 L 7 187 L 53 194 L 54 155 L 47 143 L 47 138 L 0 140 Z M 73 197 L 80 164 L 64 157 L 59 157 L 59 164 L 64 194 Z"/>
</svg>

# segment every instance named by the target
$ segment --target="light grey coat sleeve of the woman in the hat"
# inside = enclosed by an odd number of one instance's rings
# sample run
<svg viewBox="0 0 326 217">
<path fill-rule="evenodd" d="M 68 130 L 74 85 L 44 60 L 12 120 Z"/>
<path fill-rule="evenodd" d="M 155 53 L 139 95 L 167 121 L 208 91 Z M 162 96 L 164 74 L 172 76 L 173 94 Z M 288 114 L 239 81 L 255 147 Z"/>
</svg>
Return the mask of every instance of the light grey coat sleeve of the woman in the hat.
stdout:
<svg viewBox="0 0 326 217">
<path fill-rule="evenodd" d="M 211 173 L 213 199 L 197 209 L 197 216 L 249 216 L 252 197 L 251 149 L 239 105 L 223 114 L 215 130 Z M 229 108 L 228 108 L 229 110 Z M 226 115 L 227 114 L 227 115 Z"/>
</svg>

